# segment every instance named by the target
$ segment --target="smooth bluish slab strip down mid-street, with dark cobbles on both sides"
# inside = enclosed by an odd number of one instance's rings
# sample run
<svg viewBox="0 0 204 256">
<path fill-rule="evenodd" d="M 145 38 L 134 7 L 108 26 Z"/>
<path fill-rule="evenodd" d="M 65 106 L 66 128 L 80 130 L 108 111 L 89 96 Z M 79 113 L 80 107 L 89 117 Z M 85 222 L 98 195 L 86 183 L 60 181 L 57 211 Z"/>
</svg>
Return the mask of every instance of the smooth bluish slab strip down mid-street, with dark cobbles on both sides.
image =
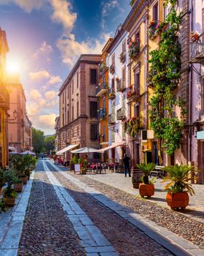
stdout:
<svg viewBox="0 0 204 256">
<path fill-rule="evenodd" d="M 64 211 L 66 211 L 68 219 L 70 219 L 74 230 L 81 239 L 81 244 L 87 252 L 87 256 L 116 256 L 118 255 L 114 247 L 103 236 L 100 230 L 98 230 L 85 211 L 75 202 L 74 198 L 69 195 L 66 189 L 60 184 L 57 178 L 52 174 L 50 169 L 43 162 L 44 170 L 50 180 L 50 183 L 55 189 L 55 193 L 58 196 Z"/>
</svg>

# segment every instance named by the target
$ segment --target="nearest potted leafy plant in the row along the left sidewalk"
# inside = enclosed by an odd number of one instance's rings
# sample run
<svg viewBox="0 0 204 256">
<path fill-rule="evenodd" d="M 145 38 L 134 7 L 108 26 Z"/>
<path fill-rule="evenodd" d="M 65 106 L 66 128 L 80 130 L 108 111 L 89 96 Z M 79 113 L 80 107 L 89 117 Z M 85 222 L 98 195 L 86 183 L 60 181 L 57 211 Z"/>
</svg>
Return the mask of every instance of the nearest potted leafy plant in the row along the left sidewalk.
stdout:
<svg viewBox="0 0 204 256">
<path fill-rule="evenodd" d="M 5 180 L 7 181 L 7 188 L 4 189 L 3 203 L 6 206 L 14 206 L 17 192 L 13 189 L 13 181 L 15 178 L 15 172 L 13 170 L 7 170 L 5 173 Z"/>
</svg>

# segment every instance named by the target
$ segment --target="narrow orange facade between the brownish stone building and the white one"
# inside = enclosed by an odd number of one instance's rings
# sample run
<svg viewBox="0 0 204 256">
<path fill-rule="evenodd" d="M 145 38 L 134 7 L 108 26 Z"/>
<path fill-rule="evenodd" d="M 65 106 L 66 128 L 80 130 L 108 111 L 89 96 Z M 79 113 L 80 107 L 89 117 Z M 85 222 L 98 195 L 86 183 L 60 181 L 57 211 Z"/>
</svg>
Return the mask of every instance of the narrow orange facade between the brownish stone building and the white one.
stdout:
<svg viewBox="0 0 204 256">
<path fill-rule="evenodd" d="M 100 148 L 109 146 L 109 127 L 108 127 L 108 113 L 109 113 L 109 67 L 107 64 L 108 53 L 107 48 L 111 44 L 112 38 L 106 42 L 102 49 L 102 59 L 99 65 L 99 83 L 96 89 L 96 96 L 98 97 L 98 117 L 99 117 L 99 140 Z M 106 153 L 105 153 L 106 154 Z M 107 159 L 107 155 L 105 158 Z"/>
</svg>

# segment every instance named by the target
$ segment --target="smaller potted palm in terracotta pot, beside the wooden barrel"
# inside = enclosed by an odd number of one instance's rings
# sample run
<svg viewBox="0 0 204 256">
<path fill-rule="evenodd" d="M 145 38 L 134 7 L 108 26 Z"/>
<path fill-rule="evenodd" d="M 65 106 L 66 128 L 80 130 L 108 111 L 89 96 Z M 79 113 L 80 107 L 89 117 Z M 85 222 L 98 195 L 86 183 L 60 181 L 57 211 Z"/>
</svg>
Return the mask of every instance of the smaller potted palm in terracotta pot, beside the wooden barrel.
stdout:
<svg viewBox="0 0 204 256">
<path fill-rule="evenodd" d="M 149 162 L 148 164 L 137 164 L 137 167 L 144 173 L 144 176 L 141 178 L 142 183 L 139 185 L 139 193 L 141 197 L 152 197 L 154 195 L 154 184 L 149 180 L 149 173 L 155 169 L 155 164 Z"/>
</svg>

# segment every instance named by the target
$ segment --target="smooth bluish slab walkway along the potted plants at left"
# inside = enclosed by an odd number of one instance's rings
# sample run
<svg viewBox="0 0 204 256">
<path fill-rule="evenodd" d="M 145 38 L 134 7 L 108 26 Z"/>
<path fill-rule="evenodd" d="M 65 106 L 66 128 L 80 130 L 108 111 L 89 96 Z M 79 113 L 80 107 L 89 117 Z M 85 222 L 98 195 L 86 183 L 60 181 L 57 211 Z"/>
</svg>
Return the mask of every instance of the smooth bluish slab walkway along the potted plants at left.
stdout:
<svg viewBox="0 0 204 256">
<path fill-rule="evenodd" d="M 26 208 L 31 194 L 34 171 L 30 180 L 23 187 L 23 192 L 18 193 L 15 206 L 0 215 L 0 255 L 16 256 L 23 229 L 23 221 L 26 216 Z"/>
</svg>

